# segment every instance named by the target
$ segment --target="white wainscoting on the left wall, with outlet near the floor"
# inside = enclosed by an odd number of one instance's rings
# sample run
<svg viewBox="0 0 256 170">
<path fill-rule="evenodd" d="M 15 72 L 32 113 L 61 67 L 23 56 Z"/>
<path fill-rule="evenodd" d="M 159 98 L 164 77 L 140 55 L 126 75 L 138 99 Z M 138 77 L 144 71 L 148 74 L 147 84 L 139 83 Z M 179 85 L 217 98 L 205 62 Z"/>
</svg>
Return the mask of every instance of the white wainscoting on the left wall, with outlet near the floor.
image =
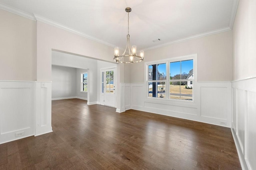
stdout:
<svg viewBox="0 0 256 170">
<path fill-rule="evenodd" d="M 0 144 L 50 131 L 51 82 L 1 80 Z"/>
</svg>

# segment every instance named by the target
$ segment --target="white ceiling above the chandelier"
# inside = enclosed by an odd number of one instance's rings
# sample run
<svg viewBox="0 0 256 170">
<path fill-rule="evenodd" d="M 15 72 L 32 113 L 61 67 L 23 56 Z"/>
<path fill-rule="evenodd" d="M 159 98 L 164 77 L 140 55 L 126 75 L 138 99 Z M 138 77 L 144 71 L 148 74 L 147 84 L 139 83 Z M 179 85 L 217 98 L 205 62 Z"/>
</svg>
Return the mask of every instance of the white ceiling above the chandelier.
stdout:
<svg viewBox="0 0 256 170">
<path fill-rule="evenodd" d="M 0 0 L 0 3 L 2 9 L 13 11 L 11 7 L 31 16 L 36 14 L 121 49 L 126 46 L 128 27 L 125 8 L 131 7 L 131 44 L 137 45 L 137 49 L 152 49 L 231 30 L 238 0 Z M 153 42 L 154 39 L 161 41 Z"/>
</svg>

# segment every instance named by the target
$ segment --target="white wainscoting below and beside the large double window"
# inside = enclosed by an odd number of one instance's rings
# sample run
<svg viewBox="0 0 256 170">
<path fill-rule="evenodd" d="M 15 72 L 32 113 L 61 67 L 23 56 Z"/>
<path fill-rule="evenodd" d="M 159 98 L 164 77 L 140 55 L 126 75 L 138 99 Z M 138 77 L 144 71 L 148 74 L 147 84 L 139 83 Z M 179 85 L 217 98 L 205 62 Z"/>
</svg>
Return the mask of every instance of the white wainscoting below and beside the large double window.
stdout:
<svg viewBox="0 0 256 170">
<path fill-rule="evenodd" d="M 125 107 L 231 127 L 231 82 L 197 82 L 194 102 L 146 97 L 144 83 L 125 84 Z"/>
</svg>

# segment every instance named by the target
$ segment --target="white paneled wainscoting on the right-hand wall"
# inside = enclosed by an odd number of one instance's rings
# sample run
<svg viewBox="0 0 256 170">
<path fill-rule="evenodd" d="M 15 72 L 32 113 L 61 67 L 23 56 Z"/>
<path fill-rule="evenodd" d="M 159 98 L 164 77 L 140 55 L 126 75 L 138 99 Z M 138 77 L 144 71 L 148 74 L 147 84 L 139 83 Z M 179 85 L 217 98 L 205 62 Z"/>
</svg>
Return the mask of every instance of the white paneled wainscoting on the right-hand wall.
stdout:
<svg viewBox="0 0 256 170">
<path fill-rule="evenodd" d="M 232 82 L 232 134 L 244 170 L 256 169 L 256 78 Z"/>
</svg>

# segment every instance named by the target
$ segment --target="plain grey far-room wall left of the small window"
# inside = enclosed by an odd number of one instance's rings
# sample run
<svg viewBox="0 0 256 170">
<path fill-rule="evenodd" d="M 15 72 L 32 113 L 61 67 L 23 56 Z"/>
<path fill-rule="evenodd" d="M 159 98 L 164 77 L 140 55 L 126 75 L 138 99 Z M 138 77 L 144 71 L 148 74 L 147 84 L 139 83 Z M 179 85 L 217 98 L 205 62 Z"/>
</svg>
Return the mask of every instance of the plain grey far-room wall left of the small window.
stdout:
<svg viewBox="0 0 256 170">
<path fill-rule="evenodd" d="M 52 99 L 74 98 L 76 77 L 76 68 L 52 65 Z"/>
</svg>

